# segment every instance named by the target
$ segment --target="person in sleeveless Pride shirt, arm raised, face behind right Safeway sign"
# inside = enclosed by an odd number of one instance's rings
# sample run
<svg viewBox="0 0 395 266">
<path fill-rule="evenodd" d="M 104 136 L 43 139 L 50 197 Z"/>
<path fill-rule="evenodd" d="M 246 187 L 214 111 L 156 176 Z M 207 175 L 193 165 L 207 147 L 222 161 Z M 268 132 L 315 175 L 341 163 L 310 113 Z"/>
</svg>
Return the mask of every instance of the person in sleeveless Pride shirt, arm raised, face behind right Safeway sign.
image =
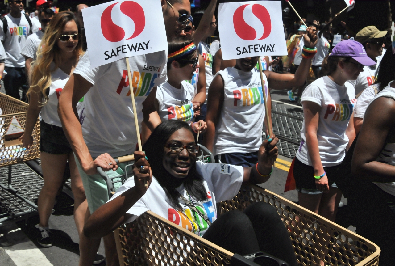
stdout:
<svg viewBox="0 0 395 266">
<path fill-rule="evenodd" d="M 236 60 L 235 67 L 219 71 L 210 85 L 207 104 L 207 132 L 204 145 L 221 162 L 253 166 L 257 162 L 258 149 L 262 143 L 262 128 L 265 123 L 265 105 L 263 92 L 267 95 L 267 104 L 271 112 L 272 89 L 289 89 L 303 84 L 307 78 L 314 45 L 317 36 L 309 29 L 305 34 L 307 53 L 298 71 L 293 74 L 278 74 L 265 70 L 261 84 L 260 72 L 254 68 L 258 57 Z M 271 117 L 271 113 L 269 113 Z M 266 133 L 268 135 L 268 133 Z M 270 138 L 274 138 L 270 136 Z"/>
</svg>

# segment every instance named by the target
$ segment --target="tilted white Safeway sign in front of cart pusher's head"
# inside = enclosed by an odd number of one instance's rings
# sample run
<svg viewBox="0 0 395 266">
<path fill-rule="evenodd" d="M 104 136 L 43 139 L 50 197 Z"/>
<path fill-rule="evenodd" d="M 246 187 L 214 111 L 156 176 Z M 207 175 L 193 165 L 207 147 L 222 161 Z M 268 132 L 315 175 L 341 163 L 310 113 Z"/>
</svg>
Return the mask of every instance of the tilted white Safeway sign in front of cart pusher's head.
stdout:
<svg viewBox="0 0 395 266">
<path fill-rule="evenodd" d="M 92 68 L 167 50 L 158 0 L 125 0 L 82 9 Z"/>
</svg>

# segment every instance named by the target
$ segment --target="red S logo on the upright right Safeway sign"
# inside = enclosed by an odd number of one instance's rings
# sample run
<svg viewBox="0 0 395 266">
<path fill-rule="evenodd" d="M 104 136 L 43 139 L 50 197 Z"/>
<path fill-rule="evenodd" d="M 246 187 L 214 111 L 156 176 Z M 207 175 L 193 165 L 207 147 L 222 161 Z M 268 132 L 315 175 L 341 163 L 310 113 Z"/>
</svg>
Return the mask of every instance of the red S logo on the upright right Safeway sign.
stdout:
<svg viewBox="0 0 395 266">
<path fill-rule="evenodd" d="M 252 14 L 260 20 L 263 26 L 263 33 L 257 33 L 257 31 L 250 25 L 248 25 L 244 19 L 243 13 L 245 9 L 251 6 Z M 236 9 L 233 14 L 233 26 L 235 32 L 243 40 L 263 40 L 269 36 L 271 32 L 271 20 L 269 11 L 260 4 L 246 4 Z M 258 36 L 257 36 L 258 35 Z"/>
</svg>

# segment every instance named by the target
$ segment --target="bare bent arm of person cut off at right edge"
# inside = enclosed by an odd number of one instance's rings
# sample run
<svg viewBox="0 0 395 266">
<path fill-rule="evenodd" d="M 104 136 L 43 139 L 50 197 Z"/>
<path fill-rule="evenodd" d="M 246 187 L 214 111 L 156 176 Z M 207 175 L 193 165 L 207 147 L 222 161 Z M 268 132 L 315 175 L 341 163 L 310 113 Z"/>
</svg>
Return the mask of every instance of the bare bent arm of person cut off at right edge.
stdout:
<svg viewBox="0 0 395 266">
<path fill-rule="evenodd" d="M 391 128 L 395 126 L 395 101 L 380 97 L 368 107 L 351 161 L 354 178 L 395 182 L 395 166 L 376 162 Z"/>
</svg>

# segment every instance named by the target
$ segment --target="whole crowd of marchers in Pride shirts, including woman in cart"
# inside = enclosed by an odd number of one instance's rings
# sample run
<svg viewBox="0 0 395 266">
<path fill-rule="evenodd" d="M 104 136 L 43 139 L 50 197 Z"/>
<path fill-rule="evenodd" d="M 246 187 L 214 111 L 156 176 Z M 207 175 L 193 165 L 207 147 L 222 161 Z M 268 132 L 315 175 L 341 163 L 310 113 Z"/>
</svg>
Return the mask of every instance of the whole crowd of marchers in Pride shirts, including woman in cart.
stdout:
<svg viewBox="0 0 395 266">
<path fill-rule="evenodd" d="M 125 60 L 90 67 L 81 12 L 88 6 L 54 13 L 51 1 L 39 0 L 30 18 L 22 1 L 8 2 L 0 18 L 0 79 L 9 96 L 29 103 L 26 148 L 40 117 L 41 246 L 53 244 L 48 221 L 68 163 L 81 266 L 104 260 L 101 238 L 107 264 L 119 265 L 112 231 L 147 210 L 232 253 L 264 251 L 297 265 L 269 204 L 220 217 L 215 208 L 243 185 L 270 178 L 278 156 L 278 138 L 268 130 L 271 90 L 284 90 L 304 113 L 289 175 L 299 204 L 335 221 L 344 194 L 360 208 L 357 232 L 381 248 L 380 265 L 393 264 L 395 57 L 383 48 L 386 30 L 368 26 L 332 45 L 335 18 L 295 23 L 288 56 L 223 60 L 220 40 L 205 42 L 218 25 L 217 0 L 192 15 L 190 0 L 161 0 L 168 50 L 129 58 L 129 80 Z M 279 63 L 282 73 L 273 71 Z M 306 87 L 310 69 L 316 80 Z M 136 148 L 131 93 L 144 152 Z M 216 162 L 196 160 L 198 143 Z M 131 162 L 114 158 L 132 154 L 134 178 L 116 183 L 109 198 L 97 167 L 119 177 Z"/>
</svg>

